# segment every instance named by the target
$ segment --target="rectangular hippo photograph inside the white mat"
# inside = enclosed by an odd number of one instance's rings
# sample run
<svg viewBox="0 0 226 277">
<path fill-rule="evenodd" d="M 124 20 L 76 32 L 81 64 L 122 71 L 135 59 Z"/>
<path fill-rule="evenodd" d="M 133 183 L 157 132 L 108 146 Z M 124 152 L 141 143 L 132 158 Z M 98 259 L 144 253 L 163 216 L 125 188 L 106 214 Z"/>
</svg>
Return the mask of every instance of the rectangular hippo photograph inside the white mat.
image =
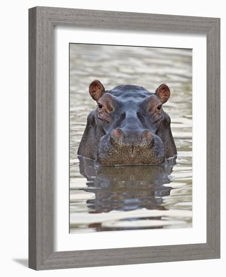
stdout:
<svg viewBox="0 0 226 277">
<path fill-rule="evenodd" d="M 192 228 L 192 49 L 69 43 L 69 233 Z"/>
</svg>

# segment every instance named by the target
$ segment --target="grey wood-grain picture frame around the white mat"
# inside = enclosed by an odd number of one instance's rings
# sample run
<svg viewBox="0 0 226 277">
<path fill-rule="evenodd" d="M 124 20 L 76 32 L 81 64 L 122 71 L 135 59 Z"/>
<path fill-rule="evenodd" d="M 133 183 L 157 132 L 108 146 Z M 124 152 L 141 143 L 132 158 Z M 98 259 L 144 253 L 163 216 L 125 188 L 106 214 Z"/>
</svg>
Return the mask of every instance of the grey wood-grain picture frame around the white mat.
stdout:
<svg viewBox="0 0 226 277">
<path fill-rule="evenodd" d="M 207 242 L 53 251 L 53 26 L 206 34 Z M 220 19 L 35 7 L 29 10 L 29 267 L 37 270 L 220 257 Z"/>
</svg>

